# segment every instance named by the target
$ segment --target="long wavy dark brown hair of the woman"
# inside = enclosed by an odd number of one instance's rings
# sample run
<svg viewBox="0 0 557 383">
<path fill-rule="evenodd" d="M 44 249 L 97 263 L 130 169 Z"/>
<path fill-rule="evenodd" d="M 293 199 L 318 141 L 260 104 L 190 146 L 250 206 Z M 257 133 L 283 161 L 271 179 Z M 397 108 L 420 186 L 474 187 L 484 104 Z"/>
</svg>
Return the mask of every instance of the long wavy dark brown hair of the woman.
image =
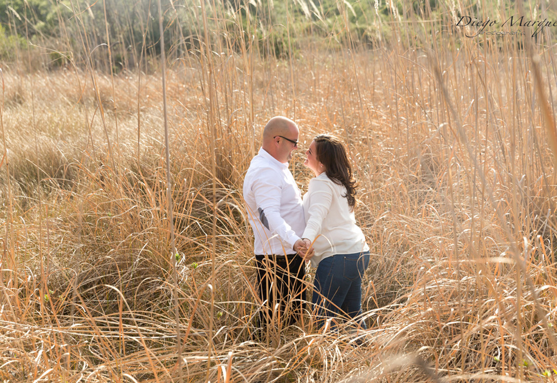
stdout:
<svg viewBox="0 0 557 383">
<path fill-rule="evenodd" d="M 325 166 L 325 173 L 335 184 L 346 188 L 346 197 L 351 210 L 356 205 L 356 188 L 358 184 L 352 174 L 352 166 L 346 155 L 343 143 L 328 134 L 320 134 L 314 138 L 315 156 Z"/>
</svg>

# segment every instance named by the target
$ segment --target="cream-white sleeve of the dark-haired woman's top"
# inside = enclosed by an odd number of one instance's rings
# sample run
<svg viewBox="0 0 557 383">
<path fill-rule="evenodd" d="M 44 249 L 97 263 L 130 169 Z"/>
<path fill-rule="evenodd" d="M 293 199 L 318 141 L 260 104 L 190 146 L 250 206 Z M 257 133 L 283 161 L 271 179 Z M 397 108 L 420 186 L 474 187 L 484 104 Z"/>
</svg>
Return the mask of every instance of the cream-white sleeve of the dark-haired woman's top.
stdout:
<svg viewBox="0 0 557 383">
<path fill-rule="evenodd" d="M 306 198 L 310 199 L 309 208 L 305 212 L 309 218 L 302 238 L 313 242 L 321 233 L 321 224 L 329 213 L 333 201 L 333 189 L 327 182 L 314 178 L 310 181 Z"/>
</svg>

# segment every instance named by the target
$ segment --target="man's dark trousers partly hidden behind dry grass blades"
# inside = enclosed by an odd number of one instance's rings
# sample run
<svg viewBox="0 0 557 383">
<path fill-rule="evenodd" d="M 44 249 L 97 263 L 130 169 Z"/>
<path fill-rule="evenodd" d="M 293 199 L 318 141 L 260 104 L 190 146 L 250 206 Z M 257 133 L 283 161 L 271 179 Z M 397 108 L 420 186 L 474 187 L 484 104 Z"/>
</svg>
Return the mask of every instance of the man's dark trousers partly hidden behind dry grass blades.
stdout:
<svg viewBox="0 0 557 383">
<path fill-rule="evenodd" d="M 306 301 L 304 260 L 297 254 L 271 254 L 256 255 L 255 263 L 259 297 L 263 302 L 260 325 L 278 328 L 293 325 L 302 316 Z"/>
</svg>

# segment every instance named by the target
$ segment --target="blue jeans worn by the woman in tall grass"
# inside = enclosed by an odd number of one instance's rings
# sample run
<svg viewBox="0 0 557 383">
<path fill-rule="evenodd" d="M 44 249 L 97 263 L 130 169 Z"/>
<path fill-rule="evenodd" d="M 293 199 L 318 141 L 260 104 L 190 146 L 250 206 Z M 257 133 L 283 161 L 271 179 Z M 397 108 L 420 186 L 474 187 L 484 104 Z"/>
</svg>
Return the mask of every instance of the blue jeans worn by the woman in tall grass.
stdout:
<svg viewBox="0 0 557 383">
<path fill-rule="evenodd" d="M 369 251 L 335 254 L 319 262 L 311 299 L 319 327 L 339 313 L 347 319 L 361 316 L 361 278 L 368 265 Z M 358 324 L 365 328 L 363 320 Z"/>
</svg>

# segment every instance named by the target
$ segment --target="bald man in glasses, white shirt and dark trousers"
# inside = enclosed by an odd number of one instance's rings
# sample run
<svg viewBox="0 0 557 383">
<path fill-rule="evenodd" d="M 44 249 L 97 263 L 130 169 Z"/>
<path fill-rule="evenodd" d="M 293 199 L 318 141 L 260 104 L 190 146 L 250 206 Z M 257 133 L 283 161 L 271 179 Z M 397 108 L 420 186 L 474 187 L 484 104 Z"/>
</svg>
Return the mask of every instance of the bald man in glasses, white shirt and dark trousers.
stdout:
<svg viewBox="0 0 557 383">
<path fill-rule="evenodd" d="M 295 122 L 286 117 L 269 120 L 262 147 L 251 160 L 243 184 L 255 236 L 257 285 L 263 302 L 261 325 L 292 325 L 302 315 L 305 301 L 304 261 L 297 254 L 308 248 L 300 238 L 305 228 L 304 207 L 288 168 L 299 133 Z M 275 311 L 277 303 L 280 310 Z"/>
</svg>

